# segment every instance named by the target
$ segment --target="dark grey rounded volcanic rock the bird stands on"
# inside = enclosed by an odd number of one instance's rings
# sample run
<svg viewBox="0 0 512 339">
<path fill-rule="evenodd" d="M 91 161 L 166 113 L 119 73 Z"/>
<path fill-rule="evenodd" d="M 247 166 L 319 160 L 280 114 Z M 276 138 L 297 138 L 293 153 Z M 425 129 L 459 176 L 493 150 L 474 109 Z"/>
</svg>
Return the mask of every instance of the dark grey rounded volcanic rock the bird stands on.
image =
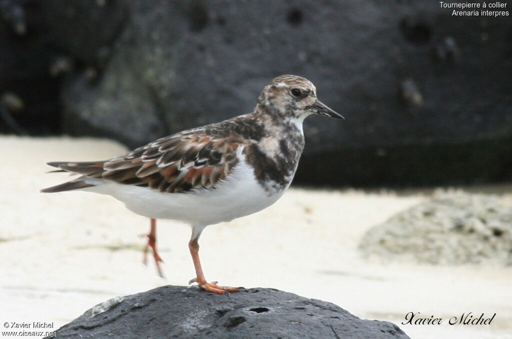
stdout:
<svg viewBox="0 0 512 339">
<path fill-rule="evenodd" d="M 61 327 L 56 338 L 409 338 L 324 301 L 269 288 L 229 295 L 163 286 L 111 299 Z"/>
</svg>

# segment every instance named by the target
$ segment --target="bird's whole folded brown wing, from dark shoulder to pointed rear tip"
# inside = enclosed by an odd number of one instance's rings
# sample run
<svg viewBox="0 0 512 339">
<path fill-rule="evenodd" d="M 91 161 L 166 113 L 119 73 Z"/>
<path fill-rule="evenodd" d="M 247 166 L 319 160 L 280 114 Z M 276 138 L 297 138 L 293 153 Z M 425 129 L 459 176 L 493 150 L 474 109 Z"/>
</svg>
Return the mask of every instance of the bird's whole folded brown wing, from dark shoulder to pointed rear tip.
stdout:
<svg viewBox="0 0 512 339">
<path fill-rule="evenodd" d="M 257 142 L 263 125 L 243 115 L 158 139 L 107 161 L 52 162 L 63 171 L 121 184 L 181 193 L 215 187 L 238 162 L 237 150 Z"/>
</svg>

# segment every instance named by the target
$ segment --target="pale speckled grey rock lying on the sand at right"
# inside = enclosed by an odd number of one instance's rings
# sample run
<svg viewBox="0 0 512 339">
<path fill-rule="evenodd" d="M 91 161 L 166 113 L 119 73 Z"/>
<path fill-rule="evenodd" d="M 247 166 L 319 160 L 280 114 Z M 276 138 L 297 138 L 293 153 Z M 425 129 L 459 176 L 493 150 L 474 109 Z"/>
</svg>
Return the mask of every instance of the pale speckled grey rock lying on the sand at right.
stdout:
<svg viewBox="0 0 512 339">
<path fill-rule="evenodd" d="M 512 206 L 484 195 L 438 197 L 371 228 L 360 248 L 381 260 L 512 266 Z"/>
</svg>

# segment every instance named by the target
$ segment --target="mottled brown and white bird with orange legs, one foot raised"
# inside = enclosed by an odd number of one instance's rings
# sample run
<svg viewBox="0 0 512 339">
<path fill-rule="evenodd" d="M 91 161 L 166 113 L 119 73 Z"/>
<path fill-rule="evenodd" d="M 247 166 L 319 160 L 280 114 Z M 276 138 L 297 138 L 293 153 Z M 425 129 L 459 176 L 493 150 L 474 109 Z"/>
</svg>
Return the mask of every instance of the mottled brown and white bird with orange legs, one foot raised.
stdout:
<svg viewBox="0 0 512 339">
<path fill-rule="evenodd" d="M 149 248 L 159 274 L 156 220 L 188 223 L 188 242 L 197 283 L 214 293 L 239 289 L 207 282 L 199 258 L 204 228 L 257 213 L 286 192 L 304 149 L 303 121 L 312 114 L 344 117 L 319 101 L 308 79 L 281 75 L 258 97 L 252 113 L 185 130 L 104 161 L 48 162 L 79 175 L 41 189 L 43 193 L 82 190 L 110 195 L 135 214 L 150 218 Z"/>
</svg>

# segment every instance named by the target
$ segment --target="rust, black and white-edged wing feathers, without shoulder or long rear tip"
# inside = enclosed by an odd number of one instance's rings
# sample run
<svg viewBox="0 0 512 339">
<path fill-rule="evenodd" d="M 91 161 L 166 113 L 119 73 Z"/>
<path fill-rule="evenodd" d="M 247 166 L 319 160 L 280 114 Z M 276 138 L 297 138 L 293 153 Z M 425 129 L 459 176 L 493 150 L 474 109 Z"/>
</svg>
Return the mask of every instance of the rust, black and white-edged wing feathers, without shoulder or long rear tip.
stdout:
<svg viewBox="0 0 512 339">
<path fill-rule="evenodd" d="M 245 143 L 203 133 L 171 136 L 106 161 L 92 176 L 168 193 L 215 187 L 237 164 L 237 149 Z"/>
</svg>

